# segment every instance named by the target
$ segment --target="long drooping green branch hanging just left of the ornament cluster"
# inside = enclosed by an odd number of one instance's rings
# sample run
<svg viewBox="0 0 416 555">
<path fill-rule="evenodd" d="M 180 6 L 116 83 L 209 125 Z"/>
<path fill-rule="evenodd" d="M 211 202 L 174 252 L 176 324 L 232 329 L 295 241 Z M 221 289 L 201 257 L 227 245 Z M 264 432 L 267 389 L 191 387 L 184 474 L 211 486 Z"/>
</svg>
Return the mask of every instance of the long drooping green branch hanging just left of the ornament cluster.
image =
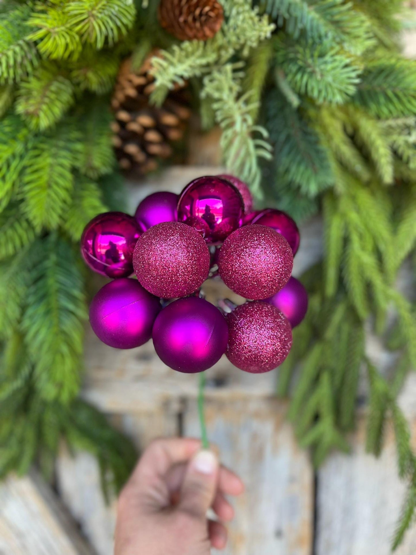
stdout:
<svg viewBox="0 0 416 555">
<path fill-rule="evenodd" d="M 32 248 L 22 327 L 44 398 L 68 402 L 78 392 L 83 321 L 83 280 L 69 245 L 55 235 Z"/>
</svg>

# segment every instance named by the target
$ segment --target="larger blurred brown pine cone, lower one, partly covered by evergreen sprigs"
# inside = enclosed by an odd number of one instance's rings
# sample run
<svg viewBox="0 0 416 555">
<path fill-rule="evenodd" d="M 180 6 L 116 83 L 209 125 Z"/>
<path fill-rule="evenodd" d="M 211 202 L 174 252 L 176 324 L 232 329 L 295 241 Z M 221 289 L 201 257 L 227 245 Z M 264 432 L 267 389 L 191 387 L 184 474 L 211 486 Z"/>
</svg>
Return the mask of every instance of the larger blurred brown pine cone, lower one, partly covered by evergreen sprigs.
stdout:
<svg viewBox="0 0 416 555">
<path fill-rule="evenodd" d="M 111 105 L 115 112 L 113 145 L 120 168 L 144 174 L 158 166 L 158 159 L 173 154 L 171 143 L 180 140 L 191 115 L 184 87 L 169 93 L 159 108 L 149 104 L 154 77 L 149 73 L 153 52 L 138 72 L 131 60 L 121 64 Z"/>
</svg>

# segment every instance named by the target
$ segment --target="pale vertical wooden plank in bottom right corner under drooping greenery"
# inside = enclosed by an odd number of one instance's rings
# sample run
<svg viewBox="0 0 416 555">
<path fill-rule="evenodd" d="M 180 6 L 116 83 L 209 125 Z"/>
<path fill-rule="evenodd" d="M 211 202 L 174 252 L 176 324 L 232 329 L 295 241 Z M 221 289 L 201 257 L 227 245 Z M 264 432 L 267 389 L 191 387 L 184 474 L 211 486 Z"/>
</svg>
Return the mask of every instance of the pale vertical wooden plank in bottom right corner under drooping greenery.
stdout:
<svg viewBox="0 0 416 555">
<path fill-rule="evenodd" d="M 414 402 L 413 402 L 414 404 Z M 365 418 L 352 438 L 351 456 L 334 453 L 318 473 L 316 555 L 390 555 L 406 483 L 398 477 L 389 425 L 377 459 L 365 451 Z M 413 435 L 416 421 L 412 421 Z M 416 526 L 395 553 L 414 555 Z"/>
</svg>

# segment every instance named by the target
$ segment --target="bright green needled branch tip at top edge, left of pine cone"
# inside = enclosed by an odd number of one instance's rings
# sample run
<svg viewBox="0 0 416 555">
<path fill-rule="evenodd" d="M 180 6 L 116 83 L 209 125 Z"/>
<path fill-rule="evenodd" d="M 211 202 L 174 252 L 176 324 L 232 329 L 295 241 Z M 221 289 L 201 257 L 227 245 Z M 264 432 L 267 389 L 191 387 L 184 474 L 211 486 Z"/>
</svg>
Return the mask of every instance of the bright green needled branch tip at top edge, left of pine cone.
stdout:
<svg viewBox="0 0 416 555">
<path fill-rule="evenodd" d="M 70 0 L 65 4 L 70 26 L 83 41 L 97 49 L 107 42 L 113 46 L 133 26 L 136 10 L 133 1 Z"/>
</svg>

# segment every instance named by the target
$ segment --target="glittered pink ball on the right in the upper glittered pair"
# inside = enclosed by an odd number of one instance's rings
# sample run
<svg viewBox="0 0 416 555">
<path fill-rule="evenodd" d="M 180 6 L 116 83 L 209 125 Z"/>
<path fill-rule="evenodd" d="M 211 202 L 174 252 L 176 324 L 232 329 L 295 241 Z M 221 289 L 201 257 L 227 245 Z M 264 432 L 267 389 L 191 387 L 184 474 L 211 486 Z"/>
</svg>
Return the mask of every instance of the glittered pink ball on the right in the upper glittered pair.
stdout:
<svg viewBox="0 0 416 555">
<path fill-rule="evenodd" d="M 246 299 L 266 299 L 289 280 L 293 254 L 286 239 L 264 225 L 246 225 L 227 237 L 218 255 L 219 273 Z"/>
</svg>

